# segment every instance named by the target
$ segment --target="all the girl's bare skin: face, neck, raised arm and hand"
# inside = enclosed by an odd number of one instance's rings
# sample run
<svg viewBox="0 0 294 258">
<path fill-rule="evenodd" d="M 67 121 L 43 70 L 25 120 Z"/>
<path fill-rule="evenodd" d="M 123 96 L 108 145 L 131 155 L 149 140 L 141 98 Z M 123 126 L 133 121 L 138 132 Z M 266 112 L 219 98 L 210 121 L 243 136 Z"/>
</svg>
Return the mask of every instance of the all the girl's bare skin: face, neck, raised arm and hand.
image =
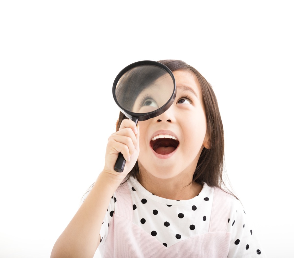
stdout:
<svg viewBox="0 0 294 258">
<path fill-rule="evenodd" d="M 175 200 L 191 199 L 201 191 L 201 185 L 190 184 L 200 153 L 209 143 L 201 90 L 197 78 L 190 72 L 179 70 L 173 74 L 177 97 L 165 113 L 139 122 L 137 127 L 133 121 L 123 120 L 120 129 L 108 138 L 103 171 L 56 240 L 51 258 L 93 257 L 100 244 L 97 232 L 101 229 L 109 200 L 137 159 L 140 183 L 148 191 Z M 176 136 L 179 146 L 170 155 L 158 156 L 150 147 L 150 140 L 154 134 L 167 130 Z M 122 173 L 113 169 L 119 153 L 127 161 Z"/>
</svg>

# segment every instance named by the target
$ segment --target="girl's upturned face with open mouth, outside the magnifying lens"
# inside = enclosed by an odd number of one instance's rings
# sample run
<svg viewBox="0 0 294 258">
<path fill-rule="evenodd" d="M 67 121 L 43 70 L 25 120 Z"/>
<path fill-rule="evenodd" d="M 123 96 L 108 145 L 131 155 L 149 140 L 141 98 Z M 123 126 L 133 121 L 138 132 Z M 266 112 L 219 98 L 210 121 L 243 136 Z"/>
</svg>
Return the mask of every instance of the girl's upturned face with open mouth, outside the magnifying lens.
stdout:
<svg viewBox="0 0 294 258">
<path fill-rule="evenodd" d="M 184 70 L 173 74 L 177 95 L 171 107 L 155 118 L 138 122 L 140 173 L 162 179 L 193 176 L 203 146 L 209 147 L 198 79 Z"/>
</svg>

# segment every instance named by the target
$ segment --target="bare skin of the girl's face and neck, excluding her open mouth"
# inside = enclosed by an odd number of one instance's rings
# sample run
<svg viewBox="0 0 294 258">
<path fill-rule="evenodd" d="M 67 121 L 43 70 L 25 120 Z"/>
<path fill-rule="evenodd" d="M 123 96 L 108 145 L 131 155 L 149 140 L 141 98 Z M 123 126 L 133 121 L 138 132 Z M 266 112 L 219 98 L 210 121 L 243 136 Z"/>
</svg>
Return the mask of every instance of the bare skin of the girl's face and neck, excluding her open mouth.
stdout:
<svg viewBox="0 0 294 258">
<path fill-rule="evenodd" d="M 202 189 L 190 182 L 203 147 L 208 148 L 206 115 L 197 77 L 187 71 L 173 74 L 177 95 L 172 106 L 163 114 L 138 123 L 140 183 L 163 198 L 191 199 Z M 150 146 L 154 133 L 161 130 L 179 140 L 178 148 L 169 158 L 158 158 Z"/>
</svg>

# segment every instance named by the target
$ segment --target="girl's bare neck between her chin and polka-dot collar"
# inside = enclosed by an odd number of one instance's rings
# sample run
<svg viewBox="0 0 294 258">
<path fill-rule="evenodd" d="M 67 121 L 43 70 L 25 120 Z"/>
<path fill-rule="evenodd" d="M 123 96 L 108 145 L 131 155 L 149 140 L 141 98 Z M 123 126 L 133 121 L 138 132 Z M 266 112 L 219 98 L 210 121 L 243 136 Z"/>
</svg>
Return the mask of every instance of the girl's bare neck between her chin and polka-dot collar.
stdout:
<svg viewBox="0 0 294 258">
<path fill-rule="evenodd" d="M 192 182 L 192 177 L 193 175 L 180 174 L 173 178 L 157 178 L 147 171 L 140 170 L 139 182 L 156 196 L 171 200 L 189 200 L 197 196 L 203 187 Z"/>
</svg>

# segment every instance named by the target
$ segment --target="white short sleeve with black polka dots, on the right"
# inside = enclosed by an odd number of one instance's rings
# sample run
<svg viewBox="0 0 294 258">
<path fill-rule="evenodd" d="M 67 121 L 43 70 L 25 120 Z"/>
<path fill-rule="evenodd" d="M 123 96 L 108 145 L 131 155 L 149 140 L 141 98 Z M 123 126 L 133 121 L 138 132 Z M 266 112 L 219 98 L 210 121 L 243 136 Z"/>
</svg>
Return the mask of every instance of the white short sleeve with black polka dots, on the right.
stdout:
<svg viewBox="0 0 294 258">
<path fill-rule="evenodd" d="M 228 257 L 266 257 L 252 223 L 239 200 L 233 199 L 227 231 L 231 232 Z"/>
</svg>

